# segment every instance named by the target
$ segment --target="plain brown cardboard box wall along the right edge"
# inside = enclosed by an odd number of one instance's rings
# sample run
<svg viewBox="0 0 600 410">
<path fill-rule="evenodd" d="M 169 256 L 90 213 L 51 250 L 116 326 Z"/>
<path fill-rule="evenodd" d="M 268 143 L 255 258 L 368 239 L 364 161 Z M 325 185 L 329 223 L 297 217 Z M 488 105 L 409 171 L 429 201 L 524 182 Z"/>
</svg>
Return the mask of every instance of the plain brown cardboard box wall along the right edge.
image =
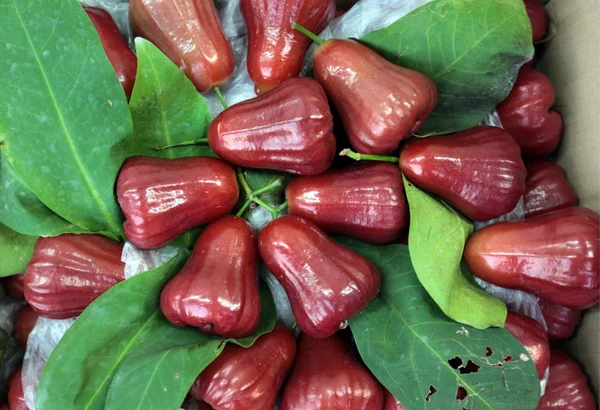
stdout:
<svg viewBox="0 0 600 410">
<path fill-rule="evenodd" d="M 547 5 L 556 35 L 545 44 L 540 69 L 554 84 L 565 121 L 558 162 L 574 185 L 581 205 L 600 211 L 600 2 L 552 0 Z M 600 387 L 600 309 L 583 316 L 566 349 Z"/>
</svg>

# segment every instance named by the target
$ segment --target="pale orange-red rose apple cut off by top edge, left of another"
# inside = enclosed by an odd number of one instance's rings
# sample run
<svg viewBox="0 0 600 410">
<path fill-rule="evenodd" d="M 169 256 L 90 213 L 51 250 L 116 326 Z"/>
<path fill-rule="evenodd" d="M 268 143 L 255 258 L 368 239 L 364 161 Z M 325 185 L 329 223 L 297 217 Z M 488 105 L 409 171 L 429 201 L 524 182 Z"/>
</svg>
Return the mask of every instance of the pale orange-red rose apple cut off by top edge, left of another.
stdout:
<svg viewBox="0 0 600 410">
<path fill-rule="evenodd" d="M 131 0 L 133 29 L 204 92 L 229 81 L 235 62 L 213 0 Z"/>
</svg>

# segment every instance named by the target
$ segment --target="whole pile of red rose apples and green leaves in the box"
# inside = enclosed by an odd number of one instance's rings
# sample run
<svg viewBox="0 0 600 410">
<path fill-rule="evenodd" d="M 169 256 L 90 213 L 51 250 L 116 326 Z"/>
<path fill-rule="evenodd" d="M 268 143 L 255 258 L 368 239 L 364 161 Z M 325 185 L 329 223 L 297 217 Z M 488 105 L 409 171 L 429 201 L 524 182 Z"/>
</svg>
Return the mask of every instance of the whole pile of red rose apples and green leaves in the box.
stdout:
<svg viewBox="0 0 600 410">
<path fill-rule="evenodd" d="M 600 217 L 550 159 L 563 131 L 550 80 L 522 65 L 529 36 L 547 36 L 539 0 L 480 2 L 520 24 L 523 41 L 498 55 L 524 50 L 512 91 L 490 91 L 501 97 L 487 108 L 490 97 L 449 104 L 456 39 L 439 72 L 417 69 L 422 56 L 402 64 L 415 50 L 399 45 L 410 19 L 467 30 L 451 16 L 461 0 L 427 3 L 361 41 L 315 34 L 344 14 L 334 0 L 241 0 L 257 96 L 231 107 L 220 87 L 236 63 L 212 0 L 131 0 L 137 56 L 106 11 L 85 7 L 88 19 L 75 0 L 52 2 L 50 22 L 74 45 L 54 27 L 38 44 L 30 28 L 46 17 L 0 4 L 0 43 L 17 50 L 0 76 L 0 274 L 26 302 L 14 338 L 28 354 L 39 317 L 78 319 L 39 385 L 25 368 L 12 374 L 2 410 L 28 409 L 29 383 L 38 410 L 596 408 L 579 365 L 551 349 L 600 299 Z M 26 36 L 9 34 L 17 23 Z M 395 40 L 378 46 L 385 36 Z M 443 40 L 432 39 L 446 52 Z M 31 69 L 27 58 L 41 82 L 19 88 L 11 76 Z M 493 75 L 485 64 L 462 69 L 474 89 Z M 88 66 L 97 71 L 80 85 Z M 224 108 L 214 119 L 200 94 L 212 92 Z M 39 108 L 48 96 L 51 114 Z M 15 122 L 13 97 L 40 109 L 27 113 L 35 124 Z M 478 125 L 494 107 L 502 127 Z M 45 121 L 55 140 L 34 145 Z M 261 226 L 248 222 L 257 212 Z M 125 241 L 176 255 L 126 278 Z M 283 289 L 292 326 L 281 312 L 276 323 L 282 300 L 263 279 Z M 515 295 L 531 309 L 511 305 Z"/>
</svg>

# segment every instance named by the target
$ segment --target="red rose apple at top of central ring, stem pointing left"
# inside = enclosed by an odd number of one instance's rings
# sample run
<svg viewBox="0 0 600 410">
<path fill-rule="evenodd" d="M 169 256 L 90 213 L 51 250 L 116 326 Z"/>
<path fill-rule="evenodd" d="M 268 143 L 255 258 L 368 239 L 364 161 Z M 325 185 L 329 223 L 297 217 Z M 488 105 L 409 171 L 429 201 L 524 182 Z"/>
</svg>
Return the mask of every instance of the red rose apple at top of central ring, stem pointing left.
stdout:
<svg viewBox="0 0 600 410">
<path fill-rule="evenodd" d="M 300 175 L 325 171 L 336 150 L 327 96 L 310 78 L 292 78 L 223 111 L 208 142 L 232 164 Z"/>
</svg>

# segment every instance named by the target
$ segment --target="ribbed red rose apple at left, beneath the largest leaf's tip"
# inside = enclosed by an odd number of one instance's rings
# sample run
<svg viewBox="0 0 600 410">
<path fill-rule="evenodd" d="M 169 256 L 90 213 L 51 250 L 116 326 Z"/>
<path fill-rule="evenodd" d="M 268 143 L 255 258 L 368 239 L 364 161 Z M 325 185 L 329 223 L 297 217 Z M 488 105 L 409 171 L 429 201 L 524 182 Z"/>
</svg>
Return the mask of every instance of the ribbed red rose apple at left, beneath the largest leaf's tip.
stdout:
<svg viewBox="0 0 600 410">
<path fill-rule="evenodd" d="M 78 316 L 125 279 L 123 245 L 101 235 L 40 238 L 25 271 L 25 300 L 50 319 Z"/>
</svg>

